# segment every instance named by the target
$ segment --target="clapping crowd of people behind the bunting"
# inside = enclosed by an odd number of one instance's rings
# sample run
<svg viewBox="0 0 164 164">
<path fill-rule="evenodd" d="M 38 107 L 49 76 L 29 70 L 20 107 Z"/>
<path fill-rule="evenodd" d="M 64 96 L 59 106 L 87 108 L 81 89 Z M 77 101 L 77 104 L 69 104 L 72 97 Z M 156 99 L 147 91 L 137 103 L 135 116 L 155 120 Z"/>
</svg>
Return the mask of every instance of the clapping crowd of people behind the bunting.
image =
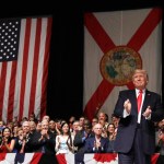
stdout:
<svg viewBox="0 0 164 164">
<path fill-rule="evenodd" d="M 21 124 L 16 117 L 7 125 L 0 121 L 0 153 L 49 154 L 61 153 L 114 153 L 119 118 L 101 112 L 90 121 L 86 117 L 70 117 L 68 121 L 44 116 L 40 121 L 35 115 Z M 156 124 L 156 151 L 164 143 L 164 119 Z"/>
</svg>

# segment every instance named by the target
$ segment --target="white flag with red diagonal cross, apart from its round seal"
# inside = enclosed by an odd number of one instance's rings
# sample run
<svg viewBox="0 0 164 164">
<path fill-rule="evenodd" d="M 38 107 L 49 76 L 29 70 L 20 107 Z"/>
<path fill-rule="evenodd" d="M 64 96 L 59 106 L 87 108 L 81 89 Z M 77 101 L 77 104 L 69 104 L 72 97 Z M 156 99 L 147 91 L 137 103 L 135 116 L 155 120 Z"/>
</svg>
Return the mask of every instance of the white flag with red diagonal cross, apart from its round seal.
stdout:
<svg viewBox="0 0 164 164">
<path fill-rule="evenodd" d="M 162 9 L 139 9 L 84 13 L 84 97 L 85 115 L 92 119 L 103 110 L 110 117 L 120 90 L 131 82 L 115 85 L 101 73 L 101 60 L 118 46 L 140 55 L 149 73 L 148 89 L 162 92 Z"/>
</svg>

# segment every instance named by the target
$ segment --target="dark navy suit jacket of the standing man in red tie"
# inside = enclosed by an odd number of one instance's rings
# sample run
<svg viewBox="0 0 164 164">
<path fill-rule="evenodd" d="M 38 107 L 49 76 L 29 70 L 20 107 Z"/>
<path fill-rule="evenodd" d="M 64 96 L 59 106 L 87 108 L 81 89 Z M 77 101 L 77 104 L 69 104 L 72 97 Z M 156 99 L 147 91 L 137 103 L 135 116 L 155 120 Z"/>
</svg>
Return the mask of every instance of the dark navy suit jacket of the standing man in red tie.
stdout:
<svg viewBox="0 0 164 164">
<path fill-rule="evenodd" d="M 131 102 L 131 113 L 128 117 L 124 118 L 124 103 L 127 99 L 130 99 Z M 147 90 L 141 114 L 144 113 L 148 106 L 151 106 L 152 109 L 151 119 L 148 120 L 141 116 L 140 127 L 142 132 L 143 152 L 151 155 L 155 151 L 154 122 L 163 119 L 164 109 L 161 103 L 161 96 Z M 114 114 L 120 117 L 114 149 L 116 152 L 128 153 L 132 147 L 134 133 L 138 128 L 136 90 L 120 91 Z"/>
</svg>

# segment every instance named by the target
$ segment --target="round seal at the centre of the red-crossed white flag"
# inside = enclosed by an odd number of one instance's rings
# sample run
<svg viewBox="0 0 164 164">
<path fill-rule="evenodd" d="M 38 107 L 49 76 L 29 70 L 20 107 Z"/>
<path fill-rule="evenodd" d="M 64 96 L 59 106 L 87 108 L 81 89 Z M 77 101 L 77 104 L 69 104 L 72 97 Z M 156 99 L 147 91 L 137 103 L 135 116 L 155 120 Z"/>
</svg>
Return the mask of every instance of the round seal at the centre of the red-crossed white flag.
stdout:
<svg viewBox="0 0 164 164">
<path fill-rule="evenodd" d="M 101 59 L 99 69 L 104 79 L 114 85 L 126 85 L 136 69 L 142 68 L 139 52 L 127 46 L 117 46 Z"/>
</svg>

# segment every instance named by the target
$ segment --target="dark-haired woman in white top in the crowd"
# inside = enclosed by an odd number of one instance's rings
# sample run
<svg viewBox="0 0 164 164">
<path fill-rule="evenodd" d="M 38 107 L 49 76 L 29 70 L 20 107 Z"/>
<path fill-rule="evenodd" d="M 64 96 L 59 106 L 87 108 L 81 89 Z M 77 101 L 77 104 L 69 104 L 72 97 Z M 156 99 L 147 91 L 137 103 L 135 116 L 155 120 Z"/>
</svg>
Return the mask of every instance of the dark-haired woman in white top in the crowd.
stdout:
<svg viewBox="0 0 164 164">
<path fill-rule="evenodd" d="M 73 153 L 73 139 L 71 136 L 68 122 L 61 125 L 61 133 L 56 137 L 56 154 Z"/>
</svg>

